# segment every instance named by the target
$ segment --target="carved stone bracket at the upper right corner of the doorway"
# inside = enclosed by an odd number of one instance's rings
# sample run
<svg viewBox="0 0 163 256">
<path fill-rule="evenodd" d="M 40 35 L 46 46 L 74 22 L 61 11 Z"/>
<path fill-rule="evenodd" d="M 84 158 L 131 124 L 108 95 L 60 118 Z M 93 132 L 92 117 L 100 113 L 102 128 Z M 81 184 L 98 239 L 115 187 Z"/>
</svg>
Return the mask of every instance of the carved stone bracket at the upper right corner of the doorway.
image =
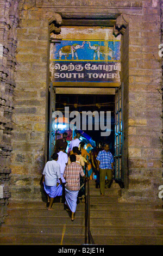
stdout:
<svg viewBox="0 0 163 256">
<path fill-rule="evenodd" d="M 128 26 L 127 15 L 121 14 L 116 19 L 116 23 L 113 28 L 113 34 L 115 36 L 117 36 L 119 34 L 123 35 L 125 33 L 127 26 Z"/>
</svg>

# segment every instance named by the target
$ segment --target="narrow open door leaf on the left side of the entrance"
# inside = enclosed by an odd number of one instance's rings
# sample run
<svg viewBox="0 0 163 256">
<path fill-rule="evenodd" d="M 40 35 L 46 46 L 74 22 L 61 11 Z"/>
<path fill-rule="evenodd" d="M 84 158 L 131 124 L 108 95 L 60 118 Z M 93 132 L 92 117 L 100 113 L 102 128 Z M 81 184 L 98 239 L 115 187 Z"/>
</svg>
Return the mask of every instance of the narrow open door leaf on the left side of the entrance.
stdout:
<svg viewBox="0 0 163 256">
<path fill-rule="evenodd" d="M 53 112 L 55 111 L 55 87 L 51 83 L 50 87 L 50 107 L 49 107 L 49 160 L 51 159 L 52 154 L 54 153 L 54 144 L 55 144 L 55 130 L 53 126 Z"/>
</svg>

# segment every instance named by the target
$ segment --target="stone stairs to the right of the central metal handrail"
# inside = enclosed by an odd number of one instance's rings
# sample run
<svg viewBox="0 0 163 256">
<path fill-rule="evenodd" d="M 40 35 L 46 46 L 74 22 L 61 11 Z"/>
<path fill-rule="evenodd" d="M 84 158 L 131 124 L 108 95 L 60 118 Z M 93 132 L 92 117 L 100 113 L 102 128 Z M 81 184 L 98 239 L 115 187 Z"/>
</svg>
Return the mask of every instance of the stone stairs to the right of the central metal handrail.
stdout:
<svg viewBox="0 0 163 256">
<path fill-rule="evenodd" d="M 99 195 L 90 181 L 90 229 L 97 245 L 163 245 L 162 205 L 122 203 L 121 189 L 113 183 Z"/>
</svg>

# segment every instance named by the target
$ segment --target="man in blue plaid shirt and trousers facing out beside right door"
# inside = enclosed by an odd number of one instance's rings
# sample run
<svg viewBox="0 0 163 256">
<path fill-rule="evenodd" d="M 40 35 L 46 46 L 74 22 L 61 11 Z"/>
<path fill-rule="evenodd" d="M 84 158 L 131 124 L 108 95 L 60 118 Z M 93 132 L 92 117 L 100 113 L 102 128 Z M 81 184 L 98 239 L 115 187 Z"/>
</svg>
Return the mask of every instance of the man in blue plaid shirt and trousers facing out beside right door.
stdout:
<svg viewBox="0 0 163 256">
<path fill-rule="evenodd" d="M 109 152 L 109 144 L 104 144 L 104 150 L 99 151 L 97 156 L 97 170 L 99 172 L 100 192 L 104 196 L 105 186 L 110 187 L 112 172 L 114 170 L 114 159 Z M 107 178 L 105 185 L 105 177 Z"/>
</svg>

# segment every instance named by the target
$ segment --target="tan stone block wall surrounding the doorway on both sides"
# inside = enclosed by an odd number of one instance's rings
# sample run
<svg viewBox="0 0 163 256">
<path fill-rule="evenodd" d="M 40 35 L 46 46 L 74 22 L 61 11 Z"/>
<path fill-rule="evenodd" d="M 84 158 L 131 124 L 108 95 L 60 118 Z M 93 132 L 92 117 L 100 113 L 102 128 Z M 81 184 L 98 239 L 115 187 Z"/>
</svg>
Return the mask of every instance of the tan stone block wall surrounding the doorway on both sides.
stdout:
<svg viewBox="0 0 163 256">
<path fill-rule="evenodd" d="M 49 32 L 62 19 L 111 20 L 122 34 L 125 188 L 122 200 L 156 200 L 161 185 L 159 1 L 21 1 L 12 132 L 11 199 L 40 199 L 48 148 Z M 81 22 L 81 21 L 80 21 Z M 120 23 L 119 23 L 120 22 Z M 51 26 L 49 26 L 51 24 Z M 96 23 L 97 25 L 97 23 Z M 41 191 L 40 191 L 41 190 Z"/>
</svg>

